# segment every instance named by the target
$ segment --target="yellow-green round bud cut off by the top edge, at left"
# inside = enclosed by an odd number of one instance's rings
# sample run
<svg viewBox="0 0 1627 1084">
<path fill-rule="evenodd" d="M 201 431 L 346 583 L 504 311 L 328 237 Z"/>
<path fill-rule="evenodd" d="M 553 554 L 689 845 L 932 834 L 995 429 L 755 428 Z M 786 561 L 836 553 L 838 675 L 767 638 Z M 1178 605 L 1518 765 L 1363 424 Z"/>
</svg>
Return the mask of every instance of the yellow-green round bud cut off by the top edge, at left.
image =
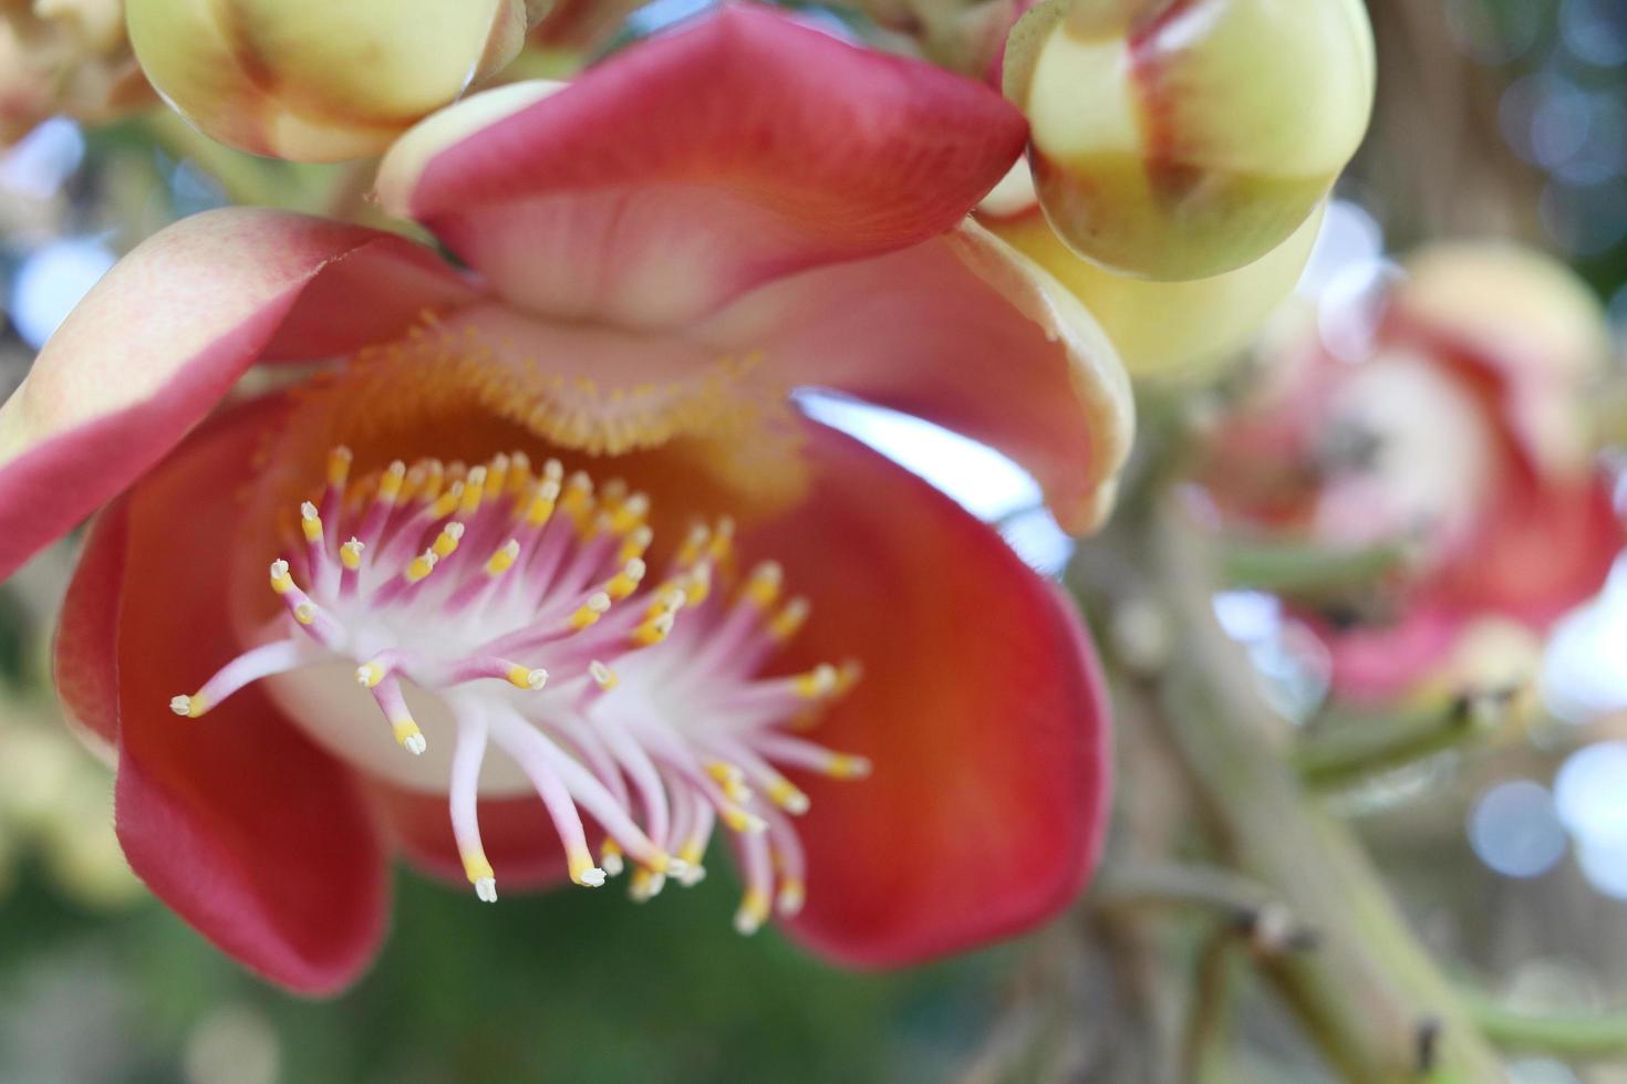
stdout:
<svg viewBox="0 0 1627 1084">
<path fill-rule="evenodd" d="M 158 93 L 255 154 L 381 153 L 524 44 L 522 0 L 129 0 Z"/>
</svg>

